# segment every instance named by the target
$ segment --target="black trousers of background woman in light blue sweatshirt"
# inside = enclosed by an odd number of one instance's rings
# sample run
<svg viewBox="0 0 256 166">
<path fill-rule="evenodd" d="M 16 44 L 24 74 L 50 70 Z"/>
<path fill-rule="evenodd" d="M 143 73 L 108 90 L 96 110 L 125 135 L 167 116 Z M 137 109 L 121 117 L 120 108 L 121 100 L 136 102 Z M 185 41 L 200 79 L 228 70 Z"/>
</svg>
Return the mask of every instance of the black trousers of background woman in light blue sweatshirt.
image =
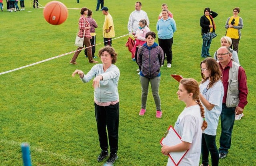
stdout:
<svg viewBox="0 0 256 166">
<path fill-rule="evenodd" d="M 173 43 L 173 38 L 170 39 L 159 39 L 158 38 L 158 43 L 159 46 L 163 49 L 164 51 L 164 60 L 166 56 L 166 60 L 168 64 L 172 64 L 172 43 Z M 164 62 L 163 62 L 164 64 Z"/>
</svg>

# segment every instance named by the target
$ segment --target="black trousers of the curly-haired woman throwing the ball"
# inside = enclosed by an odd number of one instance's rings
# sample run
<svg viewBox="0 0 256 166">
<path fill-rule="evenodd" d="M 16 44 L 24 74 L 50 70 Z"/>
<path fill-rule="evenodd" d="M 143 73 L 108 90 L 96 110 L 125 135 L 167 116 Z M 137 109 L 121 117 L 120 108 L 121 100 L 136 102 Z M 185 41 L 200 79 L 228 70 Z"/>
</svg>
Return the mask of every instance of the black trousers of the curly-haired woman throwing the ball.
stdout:
<svg viewBox="0 0 256 166">
<path fill-rule="evenodd" d="M 100 148 L 108 150 L 109 142 L 110 153 L 116 153 L 118 151 L 119 102 L 109 106 L 98 106 L 94 103 L 94 106 Z"/>
</svg>

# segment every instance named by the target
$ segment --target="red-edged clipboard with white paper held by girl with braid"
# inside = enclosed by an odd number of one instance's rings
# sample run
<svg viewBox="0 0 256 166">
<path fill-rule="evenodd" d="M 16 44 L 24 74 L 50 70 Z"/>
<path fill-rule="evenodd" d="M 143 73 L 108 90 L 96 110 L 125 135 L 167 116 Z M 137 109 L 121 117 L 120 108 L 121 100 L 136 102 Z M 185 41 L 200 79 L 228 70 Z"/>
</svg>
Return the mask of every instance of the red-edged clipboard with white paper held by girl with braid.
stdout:
<svg viewBox="0 0 256 166">
<path fill-rule="evenodd" d="M 172 125 L 168 128 L 168 130 L 164 134 L 164 137 L 160 140 L 161 145 L 167 145 L 167 146 L 174 146 L 181 142 L 182 140 L 180 135 L 176 132 L 176 130 L 172 127 Z M 170 152 L 168 156 L 170 157 L 174 165 L 178 166 L 180 164 L 180 161 L 186 155 L 187 152 L 188 150 L 183 152 Z"/>
</svg>

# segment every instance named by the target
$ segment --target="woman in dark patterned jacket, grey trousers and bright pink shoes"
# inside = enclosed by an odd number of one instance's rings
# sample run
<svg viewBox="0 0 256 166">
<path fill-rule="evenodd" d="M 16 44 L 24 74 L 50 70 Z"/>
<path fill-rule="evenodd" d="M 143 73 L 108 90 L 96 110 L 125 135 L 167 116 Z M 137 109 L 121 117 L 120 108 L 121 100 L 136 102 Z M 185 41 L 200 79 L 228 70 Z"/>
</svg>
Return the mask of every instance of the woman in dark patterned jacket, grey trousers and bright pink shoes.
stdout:
<svg viewBox="0 0 256 166">
<path fill-rule="evenodd" d="M 161 100 L 159 96 L 160 67 L 164 61 L 164 51 L 155 41 L 155 32 L 146 33 L 146 43 L 138 49 L 137 62 L 140 66 L 141 83 L 141 110 L 139 115 L 146 112 L 146 102 L 148 97 L 148 85 L 151 84 L 152 95 L 156 104 L 156 118 L 162 117 Z"/>
</svg>

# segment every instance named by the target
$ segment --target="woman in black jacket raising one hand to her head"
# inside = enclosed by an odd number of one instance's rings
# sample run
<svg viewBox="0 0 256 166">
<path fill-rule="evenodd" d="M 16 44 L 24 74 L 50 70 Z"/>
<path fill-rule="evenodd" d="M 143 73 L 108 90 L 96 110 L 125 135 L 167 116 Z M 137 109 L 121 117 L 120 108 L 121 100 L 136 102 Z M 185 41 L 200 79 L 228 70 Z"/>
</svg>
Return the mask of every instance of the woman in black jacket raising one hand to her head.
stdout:
<svg viewBox="0 0 256 166">
<path fill-rule="evenodd" d="M 202 58 L 210 57 L 210 45 L 212 42 L 212 38 L 215 38 L 217 35 L 215 34 L 215 23 L 213 21 L 213 18 L 218 16 L 218 14 L 210 8 L 204 8 L 204 15 L 200 18 L 200 26 L 202 27 L 201 35 L 203 38 L 203 44 L 202 44 L 202 52 L 201 56 Z"/>
</svg>

